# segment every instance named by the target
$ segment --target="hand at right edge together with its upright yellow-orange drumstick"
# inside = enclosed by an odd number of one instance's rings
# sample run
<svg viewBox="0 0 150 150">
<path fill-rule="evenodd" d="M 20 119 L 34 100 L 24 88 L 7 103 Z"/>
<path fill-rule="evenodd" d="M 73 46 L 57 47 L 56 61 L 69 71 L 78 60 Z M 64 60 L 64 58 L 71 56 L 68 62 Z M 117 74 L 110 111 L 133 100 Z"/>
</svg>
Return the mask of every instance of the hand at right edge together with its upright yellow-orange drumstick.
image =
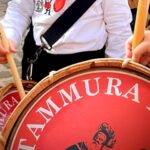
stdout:
<svg viewBox="0 0 150 150">
<path fill-rule="evenodd" d="M 150 63 L 150 31 L 145 31 L 150 0 L 139 0 L 134 34 L 126 42 L 126 58 L 148 65 Z M 124 61 L 123 67 L 128 60 Z"/>
</svg>

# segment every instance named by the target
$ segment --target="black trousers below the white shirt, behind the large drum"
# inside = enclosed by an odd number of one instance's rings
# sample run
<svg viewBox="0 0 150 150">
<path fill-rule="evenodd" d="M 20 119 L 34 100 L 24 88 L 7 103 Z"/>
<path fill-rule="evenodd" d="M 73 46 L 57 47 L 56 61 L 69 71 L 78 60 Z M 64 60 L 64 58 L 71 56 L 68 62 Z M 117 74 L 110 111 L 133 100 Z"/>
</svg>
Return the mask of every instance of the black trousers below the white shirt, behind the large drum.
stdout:
<svg viewBox="0 0 150 150">
<path fill-rule="evenodd" d="M 25 39 L 25 44 L 23 47 L 23 59 L 22 59 L 22 79 L 26 79 L 26 73 L 29 66 L 27 58 L 32 58 L 35 51 L 38 49 L 33 40 L 32 27 Z M 39 55 L 38 60 L 33 64 L 33 81 L 40 81 L 46 77 L 50 71 L 56 71 L 63 67 L 71 64 L 75 64 L 84 60 L 94 59 L 94 58 L 104 58 L 104 48 L 103 50 L 93 51 L 93 52 L 81 52 L 76 54 L 48 54 L 42 50 Z"/>
</svg>

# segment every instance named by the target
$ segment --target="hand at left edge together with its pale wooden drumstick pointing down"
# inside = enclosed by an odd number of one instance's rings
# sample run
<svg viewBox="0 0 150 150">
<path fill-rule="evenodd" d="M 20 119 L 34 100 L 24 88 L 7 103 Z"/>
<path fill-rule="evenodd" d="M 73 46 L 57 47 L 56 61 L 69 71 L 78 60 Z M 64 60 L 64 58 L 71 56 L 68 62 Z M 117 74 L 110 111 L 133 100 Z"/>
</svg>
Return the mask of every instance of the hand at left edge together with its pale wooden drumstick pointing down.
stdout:
<svg viewBox="0 0 150 150">
<path fill-rule="evenodd" d="M 12 57 L 12 52 L 16 52 L 15 45 L 11 40 L 7 40 L 3 27 L 0 24 L 0 63 L 5 64 L 8 62 L 16 87 L 18 89 L 20 98 L 22 99 L 25 96 L 25 92 L 23 89 L 22 82 L 19 77 L 19 73 L 17 71 L 14 59 Z"/>
</svg>

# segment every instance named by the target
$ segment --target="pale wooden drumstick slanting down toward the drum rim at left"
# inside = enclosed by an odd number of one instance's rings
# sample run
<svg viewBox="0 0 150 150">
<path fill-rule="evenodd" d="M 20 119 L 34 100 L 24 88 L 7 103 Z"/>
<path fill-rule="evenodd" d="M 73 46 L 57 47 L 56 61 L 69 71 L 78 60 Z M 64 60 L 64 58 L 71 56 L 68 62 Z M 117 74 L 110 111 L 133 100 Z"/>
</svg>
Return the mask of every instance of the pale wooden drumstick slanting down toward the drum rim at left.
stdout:
<svg viewBox="0 0 150 150">
<path fill-rule="evenodd" d="M 3 47 L 5 49 L 9 49 L 9 44 L 8 44 L 7 38 L 5 36 L 2 24 L 0 24 L 0 39 L 1 39 Z M 16 87 L 18 89 L 20 99 L 22 99 L 25 96 L 25 92 L 23 89 L 21 79 L 19 77 L 19 73 L 17 71 L 17 67 L 15 65 L 15 61 L 14 61 L 13 56 L 10 52 L 6 55 L 6 57 L 7 57 L 7 61 L 8 61 L 8 64 L 10 66 L 10 69 L 11 69 L 11 73 L 12 73 L 13 78 L 14 78 L 14 82 L 15 82 Z"/>
</svg>

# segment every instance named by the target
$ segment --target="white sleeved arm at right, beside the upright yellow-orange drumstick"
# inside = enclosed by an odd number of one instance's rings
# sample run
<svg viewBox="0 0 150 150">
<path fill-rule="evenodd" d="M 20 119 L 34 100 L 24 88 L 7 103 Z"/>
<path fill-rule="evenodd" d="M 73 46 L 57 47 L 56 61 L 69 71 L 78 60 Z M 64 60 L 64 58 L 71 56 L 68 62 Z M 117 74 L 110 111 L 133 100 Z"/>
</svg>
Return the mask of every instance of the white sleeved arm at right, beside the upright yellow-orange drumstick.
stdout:
<svg viewBox="0 0 150 150">
<path fill-rule="evenodd" d="M 125 56 L 125 42 L 131 36 L 131 11 L 127 0 L 104 0 L 104 20 L 108 33 L 106 56 L 123 58 Z"/>
</svg>

